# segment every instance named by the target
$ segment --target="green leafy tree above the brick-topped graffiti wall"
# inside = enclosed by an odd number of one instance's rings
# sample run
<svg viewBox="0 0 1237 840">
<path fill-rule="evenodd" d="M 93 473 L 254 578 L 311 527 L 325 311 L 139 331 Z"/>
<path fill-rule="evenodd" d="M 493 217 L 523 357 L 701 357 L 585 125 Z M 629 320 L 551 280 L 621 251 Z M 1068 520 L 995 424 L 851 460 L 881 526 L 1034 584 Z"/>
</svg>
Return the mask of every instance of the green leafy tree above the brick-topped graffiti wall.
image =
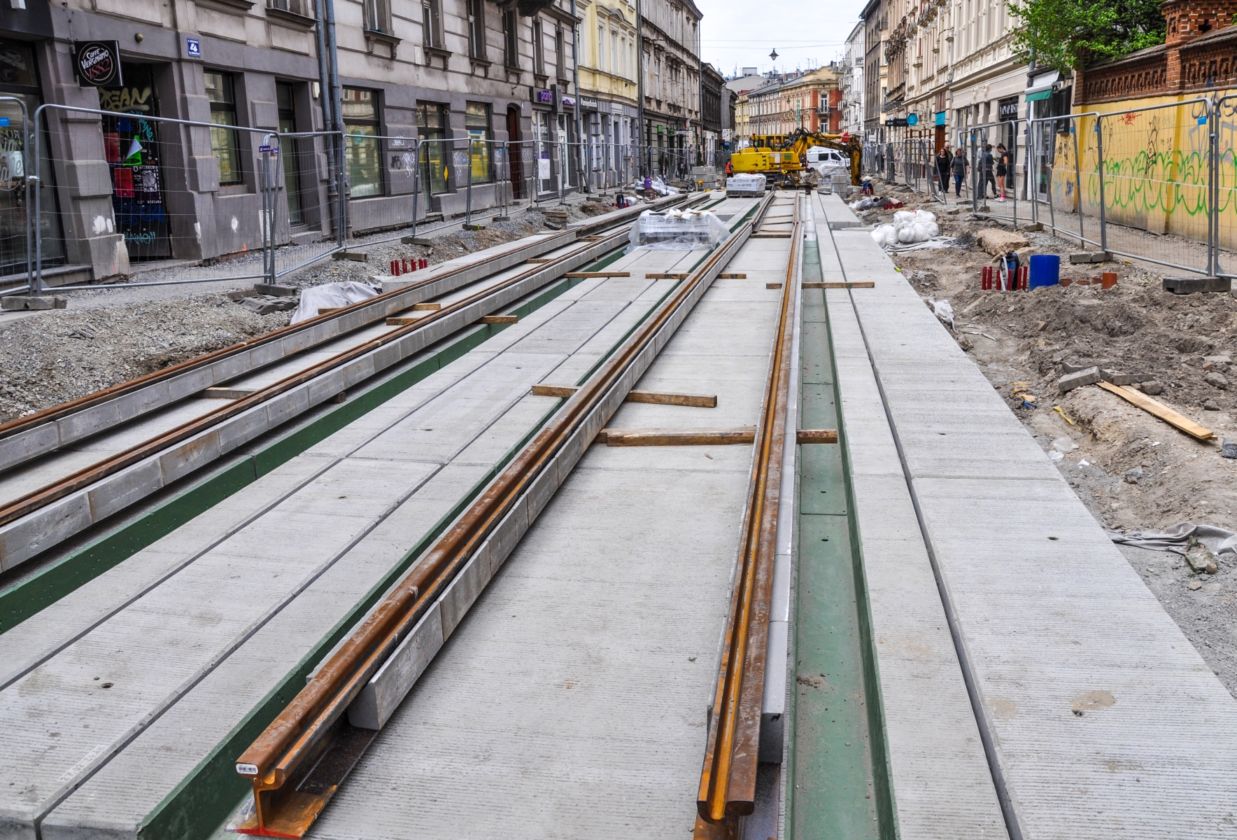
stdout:
<svg viewBox="0 0 1237 840">
<path fill-rule="evenodd" d="M 1164 43 L 1160 0 L 1007 0 L 1023 61 L 1061 72 Z"/>
</svg>

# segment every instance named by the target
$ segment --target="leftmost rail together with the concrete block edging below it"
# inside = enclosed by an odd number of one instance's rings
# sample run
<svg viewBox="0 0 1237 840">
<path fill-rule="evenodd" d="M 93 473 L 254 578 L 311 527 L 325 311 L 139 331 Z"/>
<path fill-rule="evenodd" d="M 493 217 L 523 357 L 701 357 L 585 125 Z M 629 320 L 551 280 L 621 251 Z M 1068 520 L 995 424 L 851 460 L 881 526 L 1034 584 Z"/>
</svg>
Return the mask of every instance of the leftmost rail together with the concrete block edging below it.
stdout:
<svg viewBox="0 0 1237 840">
<path fill-rule="evenodd" d="M 0 470 L 25 464 L 71 443 L 78 443 L 121 423 L 142 417 L 151 411 L 199 393 L 207 387 L 218 386 L 238 376 L 286 361 L 298 353 L 379 323 L 383 318 L 419 302 L 427 291 L 430 294 L 454 291 L 499 270 L 513 267 L 528 259 L 536 259 L 573 242 L 596 241 L 590 238 L 597 231 L 626 224 L 643 210 L 672 207 L 690 199 L 700 200 L 701 197 L 672 195 L 649 205 L 616 210 L 579 226 L 547 235 L 541 241 L 512 247 L 499 257 L 506 264 L 501 268 L 485 271 L 490 264 L 460 266 L 453 271 L 385 292 L 299 324 L 291 324 L 84 397 L 49 406 L 27 417 L 17 417 L 0 423 Z M 476 273 L 477 268 L 481 268 L 481 273 L 475 277 L 470 276 Z M 430 287 L 435 285 L 444 288 L 430 291 Z M 99 288 L 106 288 L 106 286 Z M 143 396 L 139 397 L 137 395 L 141 392 Z"/>
</svg>

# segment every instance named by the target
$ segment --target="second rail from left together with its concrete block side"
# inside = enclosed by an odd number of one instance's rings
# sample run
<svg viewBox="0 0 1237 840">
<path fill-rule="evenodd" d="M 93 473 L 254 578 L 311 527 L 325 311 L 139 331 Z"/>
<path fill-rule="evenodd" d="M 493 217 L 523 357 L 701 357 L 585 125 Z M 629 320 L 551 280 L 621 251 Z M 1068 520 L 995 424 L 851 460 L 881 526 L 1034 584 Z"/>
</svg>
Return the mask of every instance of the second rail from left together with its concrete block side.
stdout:
<svg viewBox="0 0 1237 840">
<path fill-rule="evenodd" d="M 0 506 L 0 569 L 11 569 L 36 557 L 336 393 L 401 362 L 429 344 L 465 329 L 481 317 L 558 280 L 564 272 L 594 262 L 622 246 L 630 220 L 631 216 L 625 216 L 617 225 L 609 225 L 606 229 L 617 229 L 580 242 L 579 249 L 552 262 L 531 264 L 527 270 L 429 312 L 416 323 L 397 327 L 370 341 L 349 348 Z M 614 223 L 615 219 L 609 221 Z M 567 239 L 552 250 L 570 246 L 574 241 Z M 439 280 L 432 278 L 427 283 Z M 323 319 L 346 318 L 366 312 L 365 323 L 356 327 L 360 328 L 386 318 L 385 311 L 392 306 L 411 306 L 411 302 L 392 303 L 392 299 L 397 299 L 393 296 L 407 292 L 407 288 L 398 289 L 304 323 L 322 324 Z M 339 334 L 329 338 L 339 338 Z M 272 361 L 286 359 L 287 356 L 281 356 Z"/>
</svg>

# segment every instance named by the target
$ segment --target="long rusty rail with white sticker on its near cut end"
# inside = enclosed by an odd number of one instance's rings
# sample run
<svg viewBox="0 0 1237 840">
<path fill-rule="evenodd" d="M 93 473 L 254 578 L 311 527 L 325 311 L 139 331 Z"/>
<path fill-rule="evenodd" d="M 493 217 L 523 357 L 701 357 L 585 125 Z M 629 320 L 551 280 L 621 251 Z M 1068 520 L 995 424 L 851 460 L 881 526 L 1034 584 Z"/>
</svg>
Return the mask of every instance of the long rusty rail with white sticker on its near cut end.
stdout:
<svg viewBox="0 0 1237 840">
<path fill-rule="evenodd" d="M 625 376 L 653 346 L 663 328 L 669 325 L 673 330 L 679 309 L 693 299 L 701 283 L 711 282 L 720 273 L 753 226 L 763 219 L 772 200 L 773 194 L 769 193 L 753 218 L 732 231 L 567 400 L 549 423 L 434 542 L 241 753 L 236 760 L 236 772 L 252 782 L 254 813 L 238 831 L 262 836 L 303 836 L 374 735 L 357 735 L 359 730 L 346 724 L 344 715 L 349 704 L 503 517 L 518 510 L 521 501 L 541 487 L 547 469 L 559 468 L 559 455 L 583 455 L 596 431 L 609 418 L 599 417 L 599 412 L 609 409 L 612 413 L 621 401 L 614 400 L 615 391 L 625 384 L 626 390 L 635 385 L 633 381 L 625 382 Z M 596 428 L 590 428 L 590 424 Z M 571 445 L 579 452 L 569 449 Z M 314 778 L 318 768 L 324 766 L 328 767 L 328 778 Z"/>
</svg>

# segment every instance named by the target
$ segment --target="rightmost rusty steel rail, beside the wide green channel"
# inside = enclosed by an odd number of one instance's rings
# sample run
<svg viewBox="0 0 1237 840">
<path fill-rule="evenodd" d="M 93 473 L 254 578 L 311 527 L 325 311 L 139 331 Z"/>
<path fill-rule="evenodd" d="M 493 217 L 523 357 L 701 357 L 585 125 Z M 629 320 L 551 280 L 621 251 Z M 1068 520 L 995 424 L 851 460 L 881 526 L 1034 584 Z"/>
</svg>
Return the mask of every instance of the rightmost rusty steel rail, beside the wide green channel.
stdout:
<svg viewBox="0 0 1237 840">
<path fill-rule="evenodd" d="M 782 309 L 769 359 L 768 382 L 748 481 L 747 510 L 731 591 L 704 767 L 696 797 L 696 838 L 716 838 L 717 826 L 735 830 L 738 816 L 756 802 L 761 701 L 768 646 L 782 452 L 789 398 L 792 315 L 803 224 L 794 199 L 790 255 L 782 285 Z M 704 825 L 701 825 L 701 820 Z M 727 825 L 729 824 L 729 825 Z"/>
</svg>

